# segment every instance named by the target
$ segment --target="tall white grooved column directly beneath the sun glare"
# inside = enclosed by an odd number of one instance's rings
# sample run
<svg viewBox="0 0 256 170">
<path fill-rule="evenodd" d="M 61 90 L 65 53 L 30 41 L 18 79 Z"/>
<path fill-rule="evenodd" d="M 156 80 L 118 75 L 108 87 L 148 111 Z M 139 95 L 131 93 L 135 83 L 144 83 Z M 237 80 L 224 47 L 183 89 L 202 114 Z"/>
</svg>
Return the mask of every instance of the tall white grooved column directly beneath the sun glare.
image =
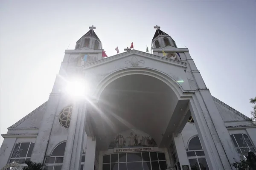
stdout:
<svg viewBox="0 0 256 170">
<path fill-rule="evenodd" d="M 83 151 L 86 102 L 79 100 L 73 105 L 62 170 L 80 170 Z"/>
</svg>

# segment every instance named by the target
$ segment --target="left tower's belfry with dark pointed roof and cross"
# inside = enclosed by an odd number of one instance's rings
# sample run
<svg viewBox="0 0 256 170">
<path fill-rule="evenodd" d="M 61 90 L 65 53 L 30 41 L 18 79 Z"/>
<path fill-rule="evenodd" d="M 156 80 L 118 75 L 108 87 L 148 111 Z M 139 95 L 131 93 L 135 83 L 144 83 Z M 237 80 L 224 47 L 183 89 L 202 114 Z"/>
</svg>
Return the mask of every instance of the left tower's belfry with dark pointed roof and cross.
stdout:
<svg viewBox="0 0 256 170">
<path fill-rule="evenodd" d="M 94 50 L 102 49 L 101 41 L 99 40 L 99 37 L 96 35 L 96 33 L 93 31 L 93 29 L 96 29 L 96 27 L 90 26 L 89 29 L 90 30 L 76 42 L 75 50 L 81 48 L 91 48 Z"/>
</svg>

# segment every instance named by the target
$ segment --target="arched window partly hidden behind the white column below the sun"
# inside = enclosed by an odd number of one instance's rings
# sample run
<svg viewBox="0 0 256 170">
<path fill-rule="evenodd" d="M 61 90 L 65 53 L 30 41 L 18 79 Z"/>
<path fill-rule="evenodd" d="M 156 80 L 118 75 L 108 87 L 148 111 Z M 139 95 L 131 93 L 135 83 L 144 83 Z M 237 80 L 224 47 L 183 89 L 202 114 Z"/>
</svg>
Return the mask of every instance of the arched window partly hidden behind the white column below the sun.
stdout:
<svg viewBox="0 0 256 170">
<path fill-rule="evenodd" d="M 45 169 L 61 170 L 65 148 L 66 148 L 66 142 L 63 142 L 59 144 L 57 147 L 55 147 L 55 149 L 52 151 L 51 156 L 45 158 L 45 163 L 47 164 Z M 82 160 L 81 160 L 81 170 L 84 169 L 84 159 L 85 159 L 85 156 L 83 153 Z"/>
</svg>

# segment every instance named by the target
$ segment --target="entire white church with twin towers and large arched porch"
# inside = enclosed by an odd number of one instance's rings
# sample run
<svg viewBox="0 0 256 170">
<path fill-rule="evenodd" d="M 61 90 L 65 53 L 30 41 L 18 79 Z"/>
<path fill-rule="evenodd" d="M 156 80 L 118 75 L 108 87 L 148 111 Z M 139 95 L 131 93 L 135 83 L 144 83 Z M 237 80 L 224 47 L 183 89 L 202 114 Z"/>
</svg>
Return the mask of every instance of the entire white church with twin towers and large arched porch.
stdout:
<svg viewBox="0 0 256 170">
<path fill-rule="evenodd" d="M 47 102 L 8 128 L 0 170 L 232 170 L 256 125 L 212 96 L 188 48 L 155 26 L 152 52 L 102 57 L 95 27 L 66 50 Z"/>
</svg>

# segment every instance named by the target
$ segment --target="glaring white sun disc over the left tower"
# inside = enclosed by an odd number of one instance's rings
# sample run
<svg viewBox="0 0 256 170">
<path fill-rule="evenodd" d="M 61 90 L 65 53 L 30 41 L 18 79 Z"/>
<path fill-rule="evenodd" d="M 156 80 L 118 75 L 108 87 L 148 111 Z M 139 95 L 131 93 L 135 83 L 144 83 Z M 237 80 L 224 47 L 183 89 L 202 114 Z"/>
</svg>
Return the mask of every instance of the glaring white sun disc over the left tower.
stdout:
<svg viewBox="0 0 256 170">
<path fill-rule="evenodd" d="M 81 97 L 85 96 L 88 88 L 86 83 L 83 80 L 74 80 L 72 82 L 68 82 L 66 91 L 70 96 Z"/>
</svg>

